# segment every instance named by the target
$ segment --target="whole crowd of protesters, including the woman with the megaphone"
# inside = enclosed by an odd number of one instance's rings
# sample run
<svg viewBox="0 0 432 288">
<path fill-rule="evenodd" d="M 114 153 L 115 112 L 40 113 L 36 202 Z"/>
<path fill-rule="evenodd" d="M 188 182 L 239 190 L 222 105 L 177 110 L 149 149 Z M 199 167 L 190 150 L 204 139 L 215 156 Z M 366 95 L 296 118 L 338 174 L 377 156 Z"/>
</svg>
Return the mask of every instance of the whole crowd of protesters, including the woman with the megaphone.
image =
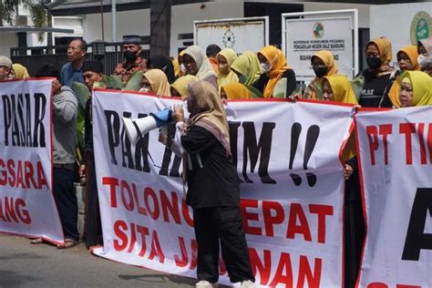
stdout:
<svg viewBox="0 0 432 288">
<path fill-rule="evenodd" d="M 365 46 L 367 66 L 354 79 L 339 74 L 334 55 L 327 50 L 311 57 L 315 77 L 304 91 L 297 84 L 289 55 L 275 46 L 260 51 L 234 51 L 217 45 L 189 46 L 177 57 L 141 57 L 139 36 L 124 36 L 124 61 L 110 76 L 123 90 L 139 75 L 139 92 L 157 97 L 179 97 L 187 102 L 189 118 L 182 108 L 173 111 L 175 137 L 159 141 L 183 159 L 185 201 L 193 211 L 198 242 L 197 287 L 218 283 L 219 250 L 232 283 L 254 287 L 248 245 L 242 227 L 240 180 L 232 164 L 230 132 L 224 105 L 231 99 L 287 98 L 334 101 L 355 108 L 407 108 L 432 105 L 432 36 L 417 46 L 392 51 L 382 36 Z M 396 52 L 396 54 L 394 54 Z M 53 195 L 65 234 L 59 249 L 76 246 L 77 196 L 74 182 L 86 185 L 86 218 L 83 240 L 87 248 L 103 245 L 98 185 L 93 150 L 91 91 L 112 88 L 99 61 L 86 61 L 87 43 L 72 40 L 67 47 L 67 64 L 61 71 L 40 67 L 34 77 L 55 77 L 52 84 L 53 111 Z M 396 56 L 398 68 L 392 67 Z M 288 58 L 288 59 L 287 59 Z M 139 74 L 140 73 L 140 74 Z M 0 80 L 25 79 L 26 67 L 0 57 Z M 33 76 L 32 76 L 33 77 Z M 84 109 L 84 142 L 77 145 L 79 99 L 74 83 L 88 89 Z M 345 178 L 345 265 L 355 278 L 365 238 L 354 133 L 343 152 Z M 41 238 L 34 244 L 43 243 Z"/>
</svg>

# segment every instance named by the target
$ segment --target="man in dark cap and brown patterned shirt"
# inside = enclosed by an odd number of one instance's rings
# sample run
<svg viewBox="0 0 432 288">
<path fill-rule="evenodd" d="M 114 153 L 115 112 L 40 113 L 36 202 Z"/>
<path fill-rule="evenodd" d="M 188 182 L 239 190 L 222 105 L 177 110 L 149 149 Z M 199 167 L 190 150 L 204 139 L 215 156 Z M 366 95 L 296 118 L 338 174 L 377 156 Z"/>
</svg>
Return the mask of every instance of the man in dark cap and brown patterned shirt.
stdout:
<svg viewBox="0 0 432 288">
<path fill-rule="evenodd" d="M 140 38 L 138 35 L 123 36 L 123 45 L 121 50 L 125 61 L 118 64 L 113 74 L 121 77 L 123 83 L 128 82 L 129 77 L 136 71 L 145 71 L 147 61 L 141 57 L 142 47 L 139 45 Z"/>
</svg>

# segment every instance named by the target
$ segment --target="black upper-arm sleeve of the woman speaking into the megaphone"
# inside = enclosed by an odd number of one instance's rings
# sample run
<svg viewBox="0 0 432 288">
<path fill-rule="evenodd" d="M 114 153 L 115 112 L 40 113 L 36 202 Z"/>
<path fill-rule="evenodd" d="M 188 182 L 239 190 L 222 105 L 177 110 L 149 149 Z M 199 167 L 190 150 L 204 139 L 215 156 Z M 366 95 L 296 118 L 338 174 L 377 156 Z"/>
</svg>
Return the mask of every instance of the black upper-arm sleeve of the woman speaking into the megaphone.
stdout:
<svg viewBox="0 0 432 288">
<path fill-rule="evenodd" d="M 181 146 L 190 154 L 212 149 L 218 140 L 207 129 L 192 126 L 188 133 L 181 136 Z"/>
</svg>

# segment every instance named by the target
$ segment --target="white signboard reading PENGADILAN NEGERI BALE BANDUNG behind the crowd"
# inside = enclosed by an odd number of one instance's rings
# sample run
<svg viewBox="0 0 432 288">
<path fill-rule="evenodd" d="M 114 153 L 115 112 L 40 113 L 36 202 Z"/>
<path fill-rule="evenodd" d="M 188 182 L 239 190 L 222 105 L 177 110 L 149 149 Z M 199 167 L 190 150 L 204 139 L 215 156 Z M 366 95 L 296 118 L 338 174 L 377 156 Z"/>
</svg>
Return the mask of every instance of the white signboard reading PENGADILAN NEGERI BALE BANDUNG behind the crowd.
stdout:
<svg viewBox="0 0 432 288">
<path fill-rule="evenodd" d="M 339 73 L 354 77 L 353 28 L 350 17 L 285 19 L 288 64 L 298 81 L 311 81 L 311 57 L 320 50 L 333 53 Z"/>
</svg>

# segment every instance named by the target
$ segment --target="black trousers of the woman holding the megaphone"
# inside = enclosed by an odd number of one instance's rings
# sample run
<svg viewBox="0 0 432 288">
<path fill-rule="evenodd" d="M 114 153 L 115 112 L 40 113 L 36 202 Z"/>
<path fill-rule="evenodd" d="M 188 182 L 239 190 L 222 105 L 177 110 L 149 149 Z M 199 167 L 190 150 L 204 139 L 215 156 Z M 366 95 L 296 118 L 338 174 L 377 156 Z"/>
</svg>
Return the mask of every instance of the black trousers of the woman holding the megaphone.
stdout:
<svg viewBox="0 0 432 288">
<path fill-rule="evenodd" d="M 198 280 L 219 279 L 219 245 L 231 283 L 255 281 L 239 207 L 211 207 L 193 210 L 198 242 Z"/>
</svg>

